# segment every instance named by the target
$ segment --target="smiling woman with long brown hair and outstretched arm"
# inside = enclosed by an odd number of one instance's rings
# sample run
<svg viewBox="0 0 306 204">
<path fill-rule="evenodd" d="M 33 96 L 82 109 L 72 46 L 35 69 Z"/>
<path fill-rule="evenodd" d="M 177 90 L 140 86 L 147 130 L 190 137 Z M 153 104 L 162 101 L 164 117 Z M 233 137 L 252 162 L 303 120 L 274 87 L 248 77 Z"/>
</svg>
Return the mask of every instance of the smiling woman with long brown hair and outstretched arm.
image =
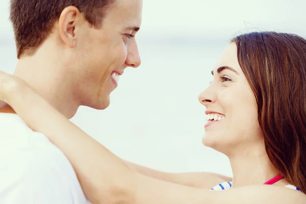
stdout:
<svg viewBox="0 0 306 204">
<path fill-rule="evenodd" d="M 274 32 L 240 35 L 225 48 L 212 74 L 212 84 L 199 95 L 208 117 L 203 144 L 230 159 L 233 182 L 212 187 L 231 191 L 184 187 L 133 172 L 22 81 L 4 73 L 0 99 L 64 152 L 91 202 L 304 203 L 299 191 L 306 193 L 306 40 Z M 110 183 L 120 185 L 106 192 Z"/>
</svg>

